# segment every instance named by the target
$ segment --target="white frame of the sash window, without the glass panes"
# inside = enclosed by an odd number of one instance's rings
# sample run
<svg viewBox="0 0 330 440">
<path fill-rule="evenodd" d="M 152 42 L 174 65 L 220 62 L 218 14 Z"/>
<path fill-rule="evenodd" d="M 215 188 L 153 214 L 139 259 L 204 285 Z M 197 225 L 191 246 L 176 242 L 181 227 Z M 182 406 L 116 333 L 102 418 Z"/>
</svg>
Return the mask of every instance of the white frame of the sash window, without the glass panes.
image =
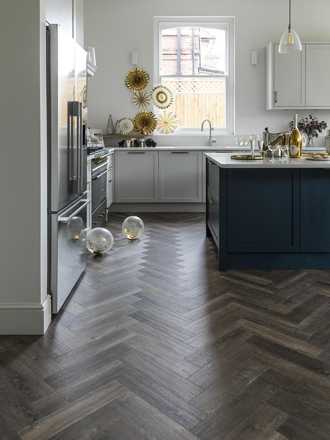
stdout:
<svg viewBox="0 0 330 440">
<path fill-rule="evenodd" d="M 178 27 L 205 27 L 225 29 L 226 32 L 226 70 L 225 75 L 162 75 L 161 74 L 161 32 Z M 161 83 L 163 77 L 225 77 L 226 78 L 226 127 L 215 128 L 213 135 L 234 134 L 235 124 L 235 18 L 234 17 L 154 17 L 153 18 L 153 86 Z M 154 111 L 157 111 L 154 107 Z M 175 134 L 202 134 L 200 127 L 180 127 Z"/>
</svg>

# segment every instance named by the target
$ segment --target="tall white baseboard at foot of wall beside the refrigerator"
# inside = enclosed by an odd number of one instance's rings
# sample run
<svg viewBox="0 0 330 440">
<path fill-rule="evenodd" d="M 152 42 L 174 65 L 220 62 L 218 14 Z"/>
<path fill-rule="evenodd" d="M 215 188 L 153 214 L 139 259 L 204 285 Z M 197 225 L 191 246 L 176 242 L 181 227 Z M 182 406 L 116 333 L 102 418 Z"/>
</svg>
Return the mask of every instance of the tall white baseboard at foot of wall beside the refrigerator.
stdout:
<svg viewBox="0 0 330 440">
<path fill-rule="evenodd" d="M 0 304 L 0 334 L 44 334 L 50 321 L 50 295 L 42 304 Z"/>
</svg>

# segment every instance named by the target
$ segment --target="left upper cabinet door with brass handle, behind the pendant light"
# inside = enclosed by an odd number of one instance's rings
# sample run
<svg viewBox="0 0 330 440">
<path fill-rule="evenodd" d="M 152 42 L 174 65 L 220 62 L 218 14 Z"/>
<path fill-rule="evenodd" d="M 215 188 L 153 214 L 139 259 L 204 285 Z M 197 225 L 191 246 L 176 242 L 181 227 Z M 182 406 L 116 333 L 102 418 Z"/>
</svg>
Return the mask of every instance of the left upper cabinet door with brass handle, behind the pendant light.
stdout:
<svg viewBox="0 0 330 440">
<path fill-rule="evenodd" d="M 274 107 L 305 106 L 305 51 L 279 53 L 274 44 Z"/>
</svg>

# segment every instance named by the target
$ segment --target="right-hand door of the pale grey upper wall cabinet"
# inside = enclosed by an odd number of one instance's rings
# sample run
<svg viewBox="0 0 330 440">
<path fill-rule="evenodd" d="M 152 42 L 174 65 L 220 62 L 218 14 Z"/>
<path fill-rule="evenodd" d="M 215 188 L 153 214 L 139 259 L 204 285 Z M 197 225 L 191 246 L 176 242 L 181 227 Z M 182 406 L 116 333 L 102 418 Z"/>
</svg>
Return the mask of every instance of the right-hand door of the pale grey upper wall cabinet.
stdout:
<svg viewBox="0 0 330 440">
<path fill-rule="evenodd" d="M 330 44 L 306 44 L 306 106 L 330 107 Z"/>
</svg>

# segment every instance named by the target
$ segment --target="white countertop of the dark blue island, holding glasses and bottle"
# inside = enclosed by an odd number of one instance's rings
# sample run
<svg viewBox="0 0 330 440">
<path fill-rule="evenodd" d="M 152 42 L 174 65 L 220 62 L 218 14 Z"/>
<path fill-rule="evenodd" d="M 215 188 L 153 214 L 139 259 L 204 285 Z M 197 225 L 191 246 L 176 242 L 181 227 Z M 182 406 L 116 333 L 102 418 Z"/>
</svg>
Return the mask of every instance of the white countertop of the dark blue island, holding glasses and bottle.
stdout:
<svg viewBox="0 0 330 440">
<path fill-rule="evenodd" d="M 212 160 L 221 168 L 330 168 L 330 160 L 308 160 L 307 157 L 282 161 L 275 157 L 274 162 L 270 158 L 265 160 L 235 160 L 231 159 L 231 153 L 206 153 L 204 156 Z"/>
</svg>

